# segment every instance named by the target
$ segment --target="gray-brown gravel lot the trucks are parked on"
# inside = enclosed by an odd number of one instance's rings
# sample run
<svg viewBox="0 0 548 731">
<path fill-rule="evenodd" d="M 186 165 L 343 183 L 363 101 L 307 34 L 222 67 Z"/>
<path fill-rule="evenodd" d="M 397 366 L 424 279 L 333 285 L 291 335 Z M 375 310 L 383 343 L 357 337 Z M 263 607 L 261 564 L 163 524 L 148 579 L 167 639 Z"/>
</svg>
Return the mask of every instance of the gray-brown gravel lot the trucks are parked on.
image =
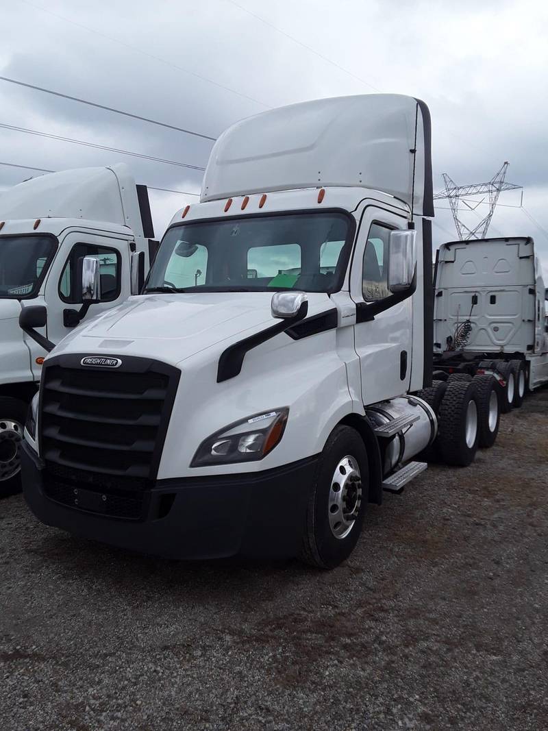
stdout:
<svg viewBox="0 0 548 731">
<path fill-rule="evenodd" d="M 547 729 L 548 390 L 351 560 L 178 564 L 0 502 L 0 727 Z"/>
</svg>

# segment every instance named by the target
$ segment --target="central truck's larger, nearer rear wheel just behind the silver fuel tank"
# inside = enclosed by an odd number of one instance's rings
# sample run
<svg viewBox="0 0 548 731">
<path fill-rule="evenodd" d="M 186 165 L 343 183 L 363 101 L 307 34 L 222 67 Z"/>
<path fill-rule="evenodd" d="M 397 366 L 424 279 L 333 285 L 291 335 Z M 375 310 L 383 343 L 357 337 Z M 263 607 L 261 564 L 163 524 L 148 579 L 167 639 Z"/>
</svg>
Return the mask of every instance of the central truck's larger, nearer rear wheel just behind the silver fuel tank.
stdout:
<svg viewBox="0 0 548 731">
<path fill-rule="evenodd" d="M 479 403 L 476 385 L 454 381 L 441 401 L 438 444 L 446 464 L 467 467 L 478 448 Z"/>
</svg>

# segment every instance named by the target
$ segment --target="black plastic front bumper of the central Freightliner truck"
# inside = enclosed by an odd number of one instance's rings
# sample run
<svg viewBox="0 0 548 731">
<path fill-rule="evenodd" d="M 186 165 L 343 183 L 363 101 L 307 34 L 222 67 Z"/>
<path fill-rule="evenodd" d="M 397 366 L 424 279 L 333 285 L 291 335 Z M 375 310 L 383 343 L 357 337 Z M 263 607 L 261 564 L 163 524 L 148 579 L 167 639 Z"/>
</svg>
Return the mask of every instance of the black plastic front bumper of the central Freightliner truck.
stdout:
<svg viewBox="0 0 548 731">
<path fill-rule="evenodd" d="M 22 447 L 25 499 L 49 526 L 167 558 L 289 558 L 300 552 L 317 457 L 254 474 L 159 480 L 139 493 L 141 518 L 128 520 L 93 512 L 102 499 L 93 482 L 80 490 L 80 505 L 89 510 L 47 496 L 45 464 L 26 442 Z"/>
</svg>

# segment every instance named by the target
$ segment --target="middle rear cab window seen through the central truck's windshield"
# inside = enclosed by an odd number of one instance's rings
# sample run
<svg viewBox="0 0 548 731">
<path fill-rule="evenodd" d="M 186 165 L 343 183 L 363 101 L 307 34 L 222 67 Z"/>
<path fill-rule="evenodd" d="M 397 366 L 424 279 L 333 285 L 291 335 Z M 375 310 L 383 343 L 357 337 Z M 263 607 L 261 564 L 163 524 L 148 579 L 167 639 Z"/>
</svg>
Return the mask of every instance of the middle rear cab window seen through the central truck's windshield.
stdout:
<svg viewBox="0 0 548 731">
<path fill-rule="evenodd" d="M 248 249 L 248 279 L 263 279 L 266 287 L 293 287 L 300 277 L 300 246 L 280 243 Z"/>
</svg>

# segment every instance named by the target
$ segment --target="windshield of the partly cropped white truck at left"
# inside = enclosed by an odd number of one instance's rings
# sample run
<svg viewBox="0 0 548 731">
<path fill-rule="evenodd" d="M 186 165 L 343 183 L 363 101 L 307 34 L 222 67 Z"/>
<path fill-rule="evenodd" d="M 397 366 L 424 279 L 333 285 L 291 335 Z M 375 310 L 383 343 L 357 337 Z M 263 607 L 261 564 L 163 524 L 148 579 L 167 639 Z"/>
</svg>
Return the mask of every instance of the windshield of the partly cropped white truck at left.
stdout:
<svg viewBox="0 0 548 731">
<path fill-rule="evenodd" d="M 52 236 L 0 236 L 0 298 L 36 295 L 55 250 Z"/>
</svg>

